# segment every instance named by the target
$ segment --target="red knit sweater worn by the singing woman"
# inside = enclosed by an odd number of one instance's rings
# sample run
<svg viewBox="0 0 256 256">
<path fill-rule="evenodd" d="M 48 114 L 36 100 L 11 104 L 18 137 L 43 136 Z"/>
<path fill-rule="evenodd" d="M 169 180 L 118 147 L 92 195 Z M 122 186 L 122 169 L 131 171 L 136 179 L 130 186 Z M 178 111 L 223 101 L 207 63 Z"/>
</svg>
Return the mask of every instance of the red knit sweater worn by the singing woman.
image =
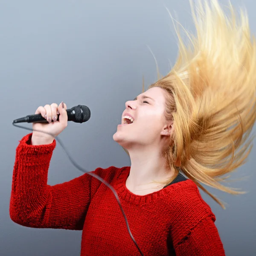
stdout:
<svg viewBox="0 0 256 256">
<path fill-rule="evenodd" d="M 26 227 L 83 230 L 81 256 L 139 256 L 113 192 L 84 174 L 47 185 L 56 142 L 31 145 L 20 140 L 13 171 L 10 217 Z M 130 167 L 97 168 L 94 172 L 116 190 L 131 233 L 144 256 L 223 256 L 215 215 L 192 180 L 148 195 L 134 195 L 125 186 Z"/>
</svg>

